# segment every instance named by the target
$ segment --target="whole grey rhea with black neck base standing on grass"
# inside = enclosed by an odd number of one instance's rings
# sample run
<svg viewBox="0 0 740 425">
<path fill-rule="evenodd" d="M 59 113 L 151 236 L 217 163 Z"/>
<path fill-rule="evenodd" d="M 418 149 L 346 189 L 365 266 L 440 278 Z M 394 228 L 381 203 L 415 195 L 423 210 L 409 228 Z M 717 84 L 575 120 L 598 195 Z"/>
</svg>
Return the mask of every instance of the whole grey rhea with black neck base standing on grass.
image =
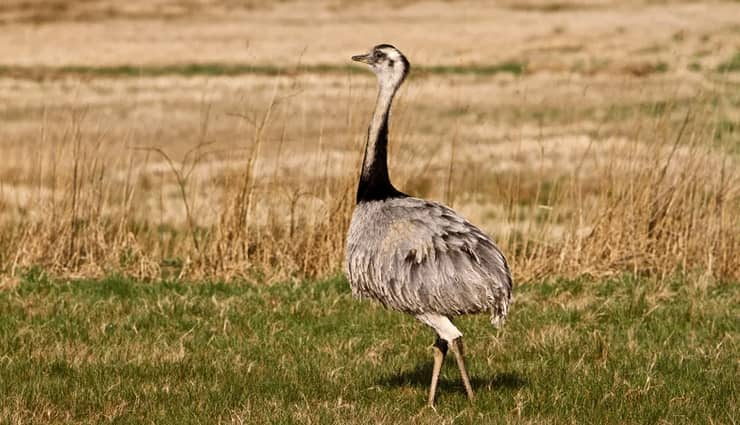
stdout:
<svg viewBox="0 0 740 425">
<path fill-rule="evenodd" d="M 393 186 L 387 163 L 388 117 L 410 65 L 389 44 L 352 60 L 369 65 L 379 85 L 347 235 L 345 271 L 352 293 L 411 314 L 436 332 L 430 406 L 448 347 L 472 401 L 462 332 L 450 317 L 487 311 L 494 326 L 503 324 L 512 289 L 506 258 L 488 235 L 452 209 Z"/>
</svg>

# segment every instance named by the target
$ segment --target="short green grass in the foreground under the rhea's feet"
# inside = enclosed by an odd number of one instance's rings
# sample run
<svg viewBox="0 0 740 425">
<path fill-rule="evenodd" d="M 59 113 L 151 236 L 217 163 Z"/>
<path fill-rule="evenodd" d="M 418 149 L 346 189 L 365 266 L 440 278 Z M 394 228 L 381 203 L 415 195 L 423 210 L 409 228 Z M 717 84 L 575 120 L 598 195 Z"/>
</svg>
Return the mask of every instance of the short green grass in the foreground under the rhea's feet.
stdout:
<svg viewBox="0 0 740 425">
<path fill-rule="evenodd" d="M 296 284 L 51 281 L 0 290 L 0 423 L 737 423 L 737 284 L 629 277 L 517 288 L 503 330 L 457 321 L 425 408 L 432 334 Z"/>
</svg>

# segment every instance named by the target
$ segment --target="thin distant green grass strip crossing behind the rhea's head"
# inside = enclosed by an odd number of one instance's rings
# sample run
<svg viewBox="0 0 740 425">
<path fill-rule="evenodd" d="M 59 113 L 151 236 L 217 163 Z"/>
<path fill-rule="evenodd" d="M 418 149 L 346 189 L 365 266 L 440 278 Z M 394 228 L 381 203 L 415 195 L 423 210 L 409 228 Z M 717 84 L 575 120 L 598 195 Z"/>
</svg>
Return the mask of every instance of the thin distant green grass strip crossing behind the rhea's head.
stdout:
<svg viewBox="0 0 740 425">
<path fill-rule="evenodd" d="M 296 73 L 360 73 L 367 72 L 365 67 L 353 64 L 349 61 L 345 65 L 299 65 L 299 66 L 274 66 L 258 64 L 229 64 L 229 63 L 190 63 L 169 65 L 114 65 L 114 66 L 85 66 L 65 65 L 58 67 L 50 66 L 18 66 L 0 65 L 0 77 L 45 79 L 68 76 L 89 77 L 162 77 L 162 76 L 235 76 L 235 75 L 289 75 Z M 428 74 L 473 74 L 493 75 L 498 73 L 511 73 L 519 75 L 524 72 L 524 64 L 517 62 L 504 62 L 493 65 L 460 65 L 460 66 L 417 66 L 412 68 L 414 75 Z"/>
</svg>

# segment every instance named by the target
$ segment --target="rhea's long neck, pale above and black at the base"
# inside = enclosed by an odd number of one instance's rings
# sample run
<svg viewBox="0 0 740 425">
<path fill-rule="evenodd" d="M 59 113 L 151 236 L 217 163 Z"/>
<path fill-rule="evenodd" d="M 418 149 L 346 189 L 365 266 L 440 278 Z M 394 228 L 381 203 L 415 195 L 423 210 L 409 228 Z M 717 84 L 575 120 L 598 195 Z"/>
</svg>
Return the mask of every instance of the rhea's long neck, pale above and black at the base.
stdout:
<svg viewBox="0 0 740 425">
<path fill-rule="evenodd" d="M 388 176 L 388 116 L 397 87 L 381 85 L 375 112 L 367 130 L 365 158 L 357 187 L 357 203 L 405 196 Z"/>
</svg>

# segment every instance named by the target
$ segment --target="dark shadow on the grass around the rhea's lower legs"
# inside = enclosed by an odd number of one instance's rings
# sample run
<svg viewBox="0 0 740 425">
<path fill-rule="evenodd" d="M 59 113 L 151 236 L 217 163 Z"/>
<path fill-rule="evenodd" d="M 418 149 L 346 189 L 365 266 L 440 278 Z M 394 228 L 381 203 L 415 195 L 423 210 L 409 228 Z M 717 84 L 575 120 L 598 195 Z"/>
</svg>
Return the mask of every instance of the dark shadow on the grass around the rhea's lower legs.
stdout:
<svg viewBox="0 0 740 425">
<path fill-rule="evenodd" d="M 439 385 L 446 387 L 459 387 L 460 391 L 465 391 L 459 374 L 455 373 L 452 377 L 446 377 L 445 369 L 454 368 L 457 371 L 457 365 L 454 362 L 445 362 L 442 373 L 439 377 Z M 527 385 L 526 379 L 516 372 L 502 372 L 486 375 L 485 372 L 470 372 L 470 384 L 474 390 L 481 388 L 507 389 L 516 390 Z M 377 384 L 384 387 L 428 387 L 432 380 L 432 363 L 419 364 L 413 370 L 398 372 L 392 375 L 381 377 Z"/>
</svg>

